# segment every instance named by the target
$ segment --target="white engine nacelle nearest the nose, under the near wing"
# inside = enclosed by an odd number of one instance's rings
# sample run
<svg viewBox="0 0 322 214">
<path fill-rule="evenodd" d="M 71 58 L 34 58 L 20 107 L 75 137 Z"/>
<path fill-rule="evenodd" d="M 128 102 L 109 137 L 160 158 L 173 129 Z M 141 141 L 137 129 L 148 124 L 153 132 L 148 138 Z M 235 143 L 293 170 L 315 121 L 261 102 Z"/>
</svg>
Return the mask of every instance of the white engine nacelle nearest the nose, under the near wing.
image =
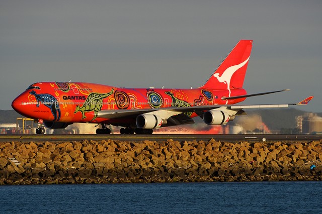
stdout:
<svg viewBox="0 0 322 214">
<path fill-rule="evenodd" d="M 160 128 L 164 121 L 156 115 L 142 114 L 136 117 L 136 126 L 139 129 L 155 129 Z"/>
</svg>

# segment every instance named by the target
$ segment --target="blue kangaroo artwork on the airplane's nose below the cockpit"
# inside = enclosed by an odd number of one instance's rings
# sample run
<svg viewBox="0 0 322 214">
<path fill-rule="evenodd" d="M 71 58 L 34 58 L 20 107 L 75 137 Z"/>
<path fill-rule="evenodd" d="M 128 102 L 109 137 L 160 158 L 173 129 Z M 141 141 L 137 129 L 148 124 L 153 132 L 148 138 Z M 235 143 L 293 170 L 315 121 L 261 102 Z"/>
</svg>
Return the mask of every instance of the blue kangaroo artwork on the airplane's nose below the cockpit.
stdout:
<svg viewBox="0 0 322 214">
<path fill-rule="evenodd" d="M 41 93 L 37 94 L 36 91 L 32 90 L 29 92 L 30 94 L 34 95 L 37 99 L 37 108 L 40 106 L 40 103 L 44 103 L 45 106 L 47 106 L 51 114 L 54 116 L 53 121 L 59 121 L 60 120 L 60 109 L 59 109 L 59 102 L 57 99 L 48 93 Z"/>
</svg>

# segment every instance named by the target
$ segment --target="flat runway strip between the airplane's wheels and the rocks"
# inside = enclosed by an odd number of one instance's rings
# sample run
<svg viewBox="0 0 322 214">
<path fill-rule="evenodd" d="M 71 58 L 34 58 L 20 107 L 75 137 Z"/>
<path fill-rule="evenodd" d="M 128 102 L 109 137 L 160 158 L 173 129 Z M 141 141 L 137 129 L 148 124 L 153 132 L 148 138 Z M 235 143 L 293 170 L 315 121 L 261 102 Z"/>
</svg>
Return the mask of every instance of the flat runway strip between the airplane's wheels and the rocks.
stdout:
<svg viewBox="0 0 322 214">
<path fill-rule="evenodd" d="M 236 141 L 313 141 L 322 139 L 322 135 L 272 135 L 272 134 L 248 134 L 248 135 L 0 135 L 0 142 L 62 142 L 82 140 L 120 140 L 120 141 L 208 141 L 215 139 L 225 142 Z"/>
</svg>

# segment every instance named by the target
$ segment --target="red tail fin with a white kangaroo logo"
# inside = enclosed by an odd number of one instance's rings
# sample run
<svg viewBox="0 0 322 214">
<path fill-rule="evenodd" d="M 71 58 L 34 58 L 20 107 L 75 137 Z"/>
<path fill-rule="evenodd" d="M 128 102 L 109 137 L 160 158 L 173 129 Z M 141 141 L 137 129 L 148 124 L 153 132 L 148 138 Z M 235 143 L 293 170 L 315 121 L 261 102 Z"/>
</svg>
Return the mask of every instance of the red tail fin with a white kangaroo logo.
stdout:
<svg viewBox="0 0 322 214">
<path fill-rule="evenodd" d="M 253 40 L 240 40 L 201 88 L 243 87 Z"/>
</svg>

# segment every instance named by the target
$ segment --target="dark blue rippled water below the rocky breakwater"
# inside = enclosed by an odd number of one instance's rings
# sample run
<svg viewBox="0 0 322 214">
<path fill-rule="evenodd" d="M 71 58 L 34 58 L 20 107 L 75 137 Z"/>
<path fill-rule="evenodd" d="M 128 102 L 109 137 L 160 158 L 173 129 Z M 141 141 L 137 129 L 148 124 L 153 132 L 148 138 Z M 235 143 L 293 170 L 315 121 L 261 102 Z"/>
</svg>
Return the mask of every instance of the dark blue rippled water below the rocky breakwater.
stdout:
<svg viewBox="0 0 322 214">
<path fill-rule="evenodd" d="M 0 186 L 0 213 L 322 213 L 322 182 Z"/>
</svg>

